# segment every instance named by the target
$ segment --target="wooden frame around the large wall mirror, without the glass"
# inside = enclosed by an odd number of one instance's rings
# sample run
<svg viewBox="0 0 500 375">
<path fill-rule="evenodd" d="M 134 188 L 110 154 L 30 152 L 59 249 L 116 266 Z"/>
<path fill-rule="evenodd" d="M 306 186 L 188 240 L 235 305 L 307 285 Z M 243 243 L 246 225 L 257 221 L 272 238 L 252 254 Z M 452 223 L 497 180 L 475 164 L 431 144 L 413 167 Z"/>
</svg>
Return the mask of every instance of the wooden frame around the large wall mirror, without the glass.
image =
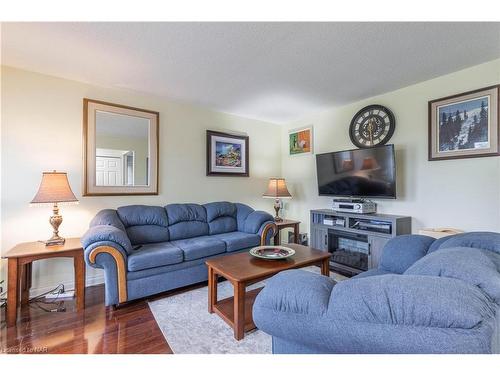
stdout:
<svg viewBox="0 0 500 375">
<path fill-rule="evenodd" d="M 149 185 L 96 185 L 96 111 L 143 117 L 149 122 Z M 158 195 L 158 154 L 160 114 L 147 109 L 128 107 L 93 99 L 83 99 L 83 196 Z"/>
</svg>

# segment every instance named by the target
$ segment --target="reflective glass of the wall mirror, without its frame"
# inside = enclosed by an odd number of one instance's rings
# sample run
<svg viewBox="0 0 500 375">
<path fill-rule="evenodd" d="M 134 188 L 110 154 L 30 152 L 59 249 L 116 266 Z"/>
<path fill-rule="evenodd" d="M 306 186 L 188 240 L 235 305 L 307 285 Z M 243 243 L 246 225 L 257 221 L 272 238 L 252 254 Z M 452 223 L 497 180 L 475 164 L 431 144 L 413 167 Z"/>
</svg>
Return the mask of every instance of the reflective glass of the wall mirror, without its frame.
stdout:
<svg viewBox="0 0 500 375">
<path fill-rule="evenodd" d="M 149 185 L 149 119 L 96 111 L 96 185 Z"/>
</svg>

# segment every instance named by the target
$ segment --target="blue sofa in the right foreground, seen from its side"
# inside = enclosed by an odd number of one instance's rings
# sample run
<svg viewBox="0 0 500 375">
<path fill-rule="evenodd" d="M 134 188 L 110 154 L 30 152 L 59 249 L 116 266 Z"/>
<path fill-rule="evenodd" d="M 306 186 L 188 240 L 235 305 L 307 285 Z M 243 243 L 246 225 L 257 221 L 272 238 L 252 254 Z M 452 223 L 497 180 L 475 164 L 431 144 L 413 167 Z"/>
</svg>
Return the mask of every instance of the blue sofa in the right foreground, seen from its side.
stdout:
<svg viewBox="0 0 500 375">
<path fill-rule="evenodd" d="M 500 234 L 392 239 L 346 281 L 269 279 L 253 308 L 273 353 L 499 353 Z"/>
</svg>

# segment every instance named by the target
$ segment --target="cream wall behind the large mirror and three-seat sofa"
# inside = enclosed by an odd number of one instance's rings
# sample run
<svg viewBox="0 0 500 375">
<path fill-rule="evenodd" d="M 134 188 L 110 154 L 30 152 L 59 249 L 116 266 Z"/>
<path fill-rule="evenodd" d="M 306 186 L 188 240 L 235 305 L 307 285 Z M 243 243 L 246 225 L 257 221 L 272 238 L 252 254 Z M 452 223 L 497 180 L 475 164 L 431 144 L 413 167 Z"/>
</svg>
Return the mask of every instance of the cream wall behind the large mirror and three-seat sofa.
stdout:
<svg viewBox="0 0 500 375">
<path fill-rule="evenodd" d="M 2 252 L 18 242 L 47 239 L 50 207 L 30 207 L 43 171 L 67 171 L 79 205 L 62 206 L 63 236 L 81 236 L 102 208 L 127 204 L 229 200 L 272 211 L 262 199 L 270 176 L 280 174 L 281 129 L 275 124 L 217 113 L 158 97 L 114 90 L 2 67 Z M 114 102 L 160 112 L 160 195 L 82 197 L 82 99 Z M 205 130 L 244 132 L 250 137 L 250 178 L 206 177 Z M 37 262 L 34 288 L 73 281 L 70 260 Z M 0 279 L 6 276 L 2 262 Z M 89 269 L 88 282 L 100 270 Z"/>
</svg>

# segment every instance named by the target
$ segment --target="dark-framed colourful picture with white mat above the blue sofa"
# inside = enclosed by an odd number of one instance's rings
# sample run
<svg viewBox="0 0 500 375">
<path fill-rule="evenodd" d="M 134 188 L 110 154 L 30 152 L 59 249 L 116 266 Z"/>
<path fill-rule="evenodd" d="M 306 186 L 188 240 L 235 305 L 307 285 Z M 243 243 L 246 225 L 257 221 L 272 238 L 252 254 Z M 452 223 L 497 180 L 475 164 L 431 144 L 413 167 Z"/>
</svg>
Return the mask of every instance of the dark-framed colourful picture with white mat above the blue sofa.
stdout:
<svg viewBox="0 0 500 375">
<path fill-rule="evenodd" d="M 249 176 L 248 136 L 207 130 L 207 176 Z"/>
</svg>

